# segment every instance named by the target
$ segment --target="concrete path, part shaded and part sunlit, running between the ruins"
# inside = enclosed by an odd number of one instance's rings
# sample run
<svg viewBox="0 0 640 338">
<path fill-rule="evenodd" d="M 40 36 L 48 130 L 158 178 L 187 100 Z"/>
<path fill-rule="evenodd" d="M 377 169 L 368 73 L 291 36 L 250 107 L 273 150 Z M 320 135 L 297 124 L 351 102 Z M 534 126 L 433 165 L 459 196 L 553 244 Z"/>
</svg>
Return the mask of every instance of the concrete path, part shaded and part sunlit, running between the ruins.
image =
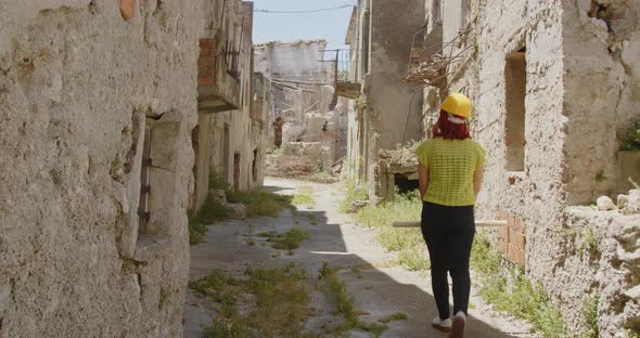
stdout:
<svg viewBox="0 0 640 338">
<path fill-rule="evenodd" d="M 431 328 L 436 316 L 436 307 L 431 294 L 428 274 L 409 272 L 401 266 L 392 266 L 395 255 L 385 252 L 375 243 L 375 233 L 348 223 L 348 216 L 337 211 L 341 193 L 336 185 L 317 184 L 282 179 L 268 179 L 265 188 L 293 194 L 296 187 L 312 186 L 316 200 L 312 209 L 298 208 L 298 212 L 284 211 L 280 218 L 257 218 L 245 221 L 229 221 L 209 226 L 206 242 L 191 247 L 190 278 L 200 278 L 214 269 L 231 274 L 241 274 L 247 264 L 271 265 L 296 262 L 305 266 L 313 278 L 322 262 L 340 268 L 340 276 L 360 308 L 368 313 L 361 318 L 373 322 L 383 316 L 401 312 L 409 320 L 392 322 L 382 337 L 446 337 Z M 311 219 L 316 220 L 313 225 Z M 310 239 L 295 250 L 294 256 L 280 255 L 269 246 L 261 246 L 254 237 L 255 246 L 246 245 L 245 233 L 276 230 L 284 232 L 293 225 L 309 231 Z M 353 269 L 356 268 L 356 269 Z M 475 290 L 472 290 L 475 295 Z M 308 328 L 319 328 L 331 321 L 332 307 L 328 295 L 312 295 L 313 316 Z M 468 337 L 535 337 L 526 323 L 500 317 L 473 296 L 471 301 Z M 187 292 L 184 307 L 184 337 L 201 337 L 202 327 L 209 325 L 215 311 L 206 299 Z M 320 332 L 320 330 L 316 330 Z M 350 333 L 351 337 L 371 337 L 367 333 Z"/>
</svg>

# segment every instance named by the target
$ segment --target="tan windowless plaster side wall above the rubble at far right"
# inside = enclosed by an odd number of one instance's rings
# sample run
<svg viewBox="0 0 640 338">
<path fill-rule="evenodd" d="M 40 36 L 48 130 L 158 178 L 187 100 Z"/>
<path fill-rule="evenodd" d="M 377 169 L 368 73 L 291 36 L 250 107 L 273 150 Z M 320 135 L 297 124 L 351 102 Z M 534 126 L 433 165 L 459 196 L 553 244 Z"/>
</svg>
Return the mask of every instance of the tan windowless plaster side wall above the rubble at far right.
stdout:
<svg viewBox="0 0 640 338">
<path fill-rule="evenodd" d="M 602 18 L 589 16 L 591 1 L 564 5 L 564 182 L 572 205 L 622 193 L 616 133 L 640 119 L 640 2 L 599 3 Z"/>
</svg>

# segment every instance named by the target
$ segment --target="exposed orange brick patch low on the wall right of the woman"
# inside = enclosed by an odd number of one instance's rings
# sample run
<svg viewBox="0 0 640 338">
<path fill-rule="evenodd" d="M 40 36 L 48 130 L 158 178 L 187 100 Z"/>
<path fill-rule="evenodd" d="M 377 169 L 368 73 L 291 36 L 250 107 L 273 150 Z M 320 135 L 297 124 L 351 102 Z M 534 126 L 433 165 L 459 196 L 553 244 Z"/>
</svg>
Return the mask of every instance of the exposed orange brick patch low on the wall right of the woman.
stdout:
<svg viewBox="0 0 640 338">
<path fill-rule="evenodd" d="M 498 250 L 507 259 L 524 266 L 526 246 L 524 222 L 505 210 L 498 211 L 498 219 L 507 221 L 508 224 L 500 227 Z"/>
</svg>

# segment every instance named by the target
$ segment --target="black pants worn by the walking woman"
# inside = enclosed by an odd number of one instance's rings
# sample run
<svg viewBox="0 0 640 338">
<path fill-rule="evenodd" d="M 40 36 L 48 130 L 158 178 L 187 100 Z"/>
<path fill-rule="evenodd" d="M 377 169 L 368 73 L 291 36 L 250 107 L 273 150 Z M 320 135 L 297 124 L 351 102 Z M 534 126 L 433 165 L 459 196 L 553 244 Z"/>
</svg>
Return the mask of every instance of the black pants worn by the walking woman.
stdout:
<svg viewBox="0 0 640 338">
<path fill-rule="evenodd" d="M 446 207 L 424 203 L 421 225 L 431 258 L 433 295 L 440 318 L 450 316 L 447 272 L 453 281 L 453 314 L 459 311 L 466 314 L 471 292 L 469 258 L 475 235 L 473 206 Z"/>
</svg>

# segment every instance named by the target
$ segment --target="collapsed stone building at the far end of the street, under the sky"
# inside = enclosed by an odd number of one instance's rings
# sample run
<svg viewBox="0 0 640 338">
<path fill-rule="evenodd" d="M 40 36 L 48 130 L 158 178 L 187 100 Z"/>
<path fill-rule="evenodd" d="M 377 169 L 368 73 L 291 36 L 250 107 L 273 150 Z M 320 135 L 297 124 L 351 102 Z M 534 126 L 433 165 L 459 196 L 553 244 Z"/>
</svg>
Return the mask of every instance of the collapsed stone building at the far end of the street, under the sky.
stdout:
<svg viewBox="0 0 640 338">
<path fill-rule="evenodd" d="M 255 69 L 271 80 L 268 144 L 283 152 L 270 157 L 270 174 L 328 172 L 346 155 L 348 103 L 334 94 L 325 50 L 324 40 L 256 46 Z"/>
</svg>

